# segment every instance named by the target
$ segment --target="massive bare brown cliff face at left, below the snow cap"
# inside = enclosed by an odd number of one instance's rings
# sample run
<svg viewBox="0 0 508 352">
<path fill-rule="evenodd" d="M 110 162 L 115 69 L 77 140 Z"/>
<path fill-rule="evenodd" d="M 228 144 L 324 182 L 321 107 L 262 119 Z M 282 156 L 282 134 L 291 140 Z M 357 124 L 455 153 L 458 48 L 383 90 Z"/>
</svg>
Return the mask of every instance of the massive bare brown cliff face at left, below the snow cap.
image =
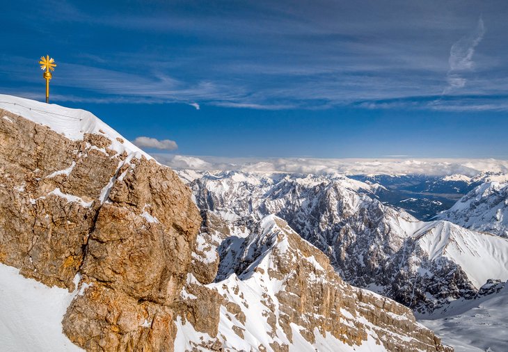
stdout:
<svg viewBox="0 0 508 352">
<path fill-rule="evenodd" d="M 74 344 L 173 351 L 172 305 L 201 222 L 189 189 L 105 135 L 72 141 L 0 115 L 0 262 L 70 291 L 81 277 L 63 320 Z"/>
</svg>

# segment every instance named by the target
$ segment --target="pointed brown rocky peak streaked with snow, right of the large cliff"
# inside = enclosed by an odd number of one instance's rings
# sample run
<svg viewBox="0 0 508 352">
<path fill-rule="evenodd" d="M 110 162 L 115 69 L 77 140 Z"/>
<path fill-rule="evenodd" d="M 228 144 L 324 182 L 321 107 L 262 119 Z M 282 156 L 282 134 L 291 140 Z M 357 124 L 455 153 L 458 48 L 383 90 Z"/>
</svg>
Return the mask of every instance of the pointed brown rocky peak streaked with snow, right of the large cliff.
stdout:
<svg viewBox="0 0 508 352">
<path fill-rule="evenodd" d="M 221 294 L 221 300 L 207 303 L 207 310 L 214 307 L 221 317 L 219 332 L 214 324 L 207 328 L 184 319 L 180 329 L 186 331 L 186 345 L 180 341 L 180 347 L 347 351 L 367 345 L 376 351 L 452 351 L 407 307 L 342 281 L 328 257 L 282 219 L 268 216 L 253 223 L 251 231 L 239 247 L 233 245 L 234 259 L 224 257 L 228 250 L 222 248 L 219 271 L 224 278 L 206 285 Z M 204 295 L 197 292 L 198 283 L 189 286 L 193 291 L 186 289 L 182 300 L 198 305 Z M 260 326 L 266 334 L 259 333 Z"/>
</svg>

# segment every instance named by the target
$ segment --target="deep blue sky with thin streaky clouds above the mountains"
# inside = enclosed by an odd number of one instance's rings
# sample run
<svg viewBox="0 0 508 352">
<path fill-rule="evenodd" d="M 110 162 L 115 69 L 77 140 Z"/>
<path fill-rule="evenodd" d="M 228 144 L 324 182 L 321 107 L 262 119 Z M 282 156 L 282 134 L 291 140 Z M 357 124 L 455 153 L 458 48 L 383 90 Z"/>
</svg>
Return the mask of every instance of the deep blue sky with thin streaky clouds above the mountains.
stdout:
<svg viewBox="0 0 508 352">
<path fill-rule="evenodd" d="M 43 100 L 38 58 L 49 54 L 51 102 L 90 110 L 131 140 L 177 143 L 163 152 L 508 159 L 506 1 L 2 10 L 2 93 Z"/>
</svg>

